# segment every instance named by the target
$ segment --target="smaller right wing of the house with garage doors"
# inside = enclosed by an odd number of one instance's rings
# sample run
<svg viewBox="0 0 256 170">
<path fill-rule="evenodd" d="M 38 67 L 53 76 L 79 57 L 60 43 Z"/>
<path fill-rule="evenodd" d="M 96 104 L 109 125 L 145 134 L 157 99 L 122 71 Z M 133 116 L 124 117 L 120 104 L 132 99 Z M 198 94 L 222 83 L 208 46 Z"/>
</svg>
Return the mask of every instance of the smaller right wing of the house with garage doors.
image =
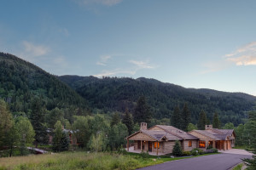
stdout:
<svg viewBox="0 0 256 170">
<path fill-rule="evenodd" d="M 218 150 L 230 150 L 235 147 L 236 133 L 234 129 L 212 128 L 206 125 L 206 130 L 193 130 L 189 134 L 199 138 L 199 148 L 207 149 L 208 146 Z"/>
</svg>

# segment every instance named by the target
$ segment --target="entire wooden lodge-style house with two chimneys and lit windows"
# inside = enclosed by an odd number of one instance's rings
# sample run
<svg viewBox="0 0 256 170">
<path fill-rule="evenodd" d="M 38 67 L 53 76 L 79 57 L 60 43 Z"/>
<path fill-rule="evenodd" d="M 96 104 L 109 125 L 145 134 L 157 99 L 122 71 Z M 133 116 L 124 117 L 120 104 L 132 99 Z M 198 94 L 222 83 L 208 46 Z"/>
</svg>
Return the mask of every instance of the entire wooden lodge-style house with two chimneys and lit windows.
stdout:
<svg viewBox="0 0 256 170">
<path fill-rule="evenodd" d="M 212 128 L 212 125 L 207 125 L 206 130 L 193 130 L 186 133 L 176 127 L 166 125 L 148 128 L 147 123 L 142 122 L 140 130 L 128 136 L 126 140 L 128 151 L 129 142 L 133 140 L 134 151 L 148 151 L 159 155 L 172 153 L 176 140 L 180 142 L 185 151 L 194 148 L 207 150 L 208 146 L 218 150 L 230 150 L 235 146 L 235 137 L 233 129 L 216 129 Z"/>
</svg>

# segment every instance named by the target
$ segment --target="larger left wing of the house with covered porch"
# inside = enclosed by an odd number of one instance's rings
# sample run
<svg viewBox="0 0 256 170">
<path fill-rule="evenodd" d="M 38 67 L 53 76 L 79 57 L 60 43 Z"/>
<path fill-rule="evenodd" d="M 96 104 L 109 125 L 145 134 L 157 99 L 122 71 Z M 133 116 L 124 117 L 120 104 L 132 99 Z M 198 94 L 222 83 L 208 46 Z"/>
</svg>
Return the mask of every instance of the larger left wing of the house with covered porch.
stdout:
<svg viewBox="0 0 256 170">
<path fill-rule="evenodd" d="M 172 153 L 175 141 L 178 140 L 183 150 L 192 150 L 198 147 L 199 139 L 176 127 L 166 125 L 155 125 L 147 127 L 146 122 L 141 123 L 138 132 L 127 138 L 127 150 L 129 151 L 129 140 L 134 141 L 134 150 L 153 152 L 156 155 Z"/>
</svg>

